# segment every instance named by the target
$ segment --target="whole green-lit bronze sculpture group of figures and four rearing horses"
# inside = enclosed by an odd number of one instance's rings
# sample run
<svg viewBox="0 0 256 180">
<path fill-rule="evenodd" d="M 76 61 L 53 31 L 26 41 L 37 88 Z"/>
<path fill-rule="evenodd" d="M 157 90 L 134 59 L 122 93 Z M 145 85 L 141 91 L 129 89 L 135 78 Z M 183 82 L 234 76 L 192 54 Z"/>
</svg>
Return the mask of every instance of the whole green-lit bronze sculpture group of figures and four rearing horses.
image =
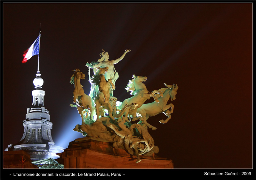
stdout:
<svg viewBox="0 0 256 180">
<path fill-rule="evenodd" d="M 117 101 L 113 96 L 118 78 L 114 64 L 121 61 L 129 51 L 130 49 L 126 49 L 120 58 L 109 61 L 108 52 L 102 49 L 98 62 L 86 63 L 91 83 L 89 95 L 84 93 L 80 83 L 85 74 L 75 69 L 73 76 L 70 77 L 70 83 L 75 85 L 73 103 L 76 104 L 70 106 L 77 108 L 82 119 L 81 125 L 76 125 L 74 131 L 108 140 L 113 148 L 125 149 L 129 154 L 136 155 L 136 162 L 140 162 L 140 155 L 150 156 L 158 152 L 153 138 L 148 133 L 148 128 L 156 130 L 156 127 L 150 125 L 147 120 L 161 112 L 167 119 L 160 120 L 160 123 L 166 123 L 171 119 L 174 106 L 172 103 L 168 104 L 168 100 L 175 100 L 178 86 L 164 83 L 164 88 L 149 92 L 143 83 L 147 77 L 133 75 L 125 88 L 127 92 L 131 91 L 132 97 L 123 102 Z M 93 68 L 94 72 L 92 77 L 90 68 Z M 155 101 L 144 104 L 150 97 Z M 137 124 L 132 123 L 137 120 Z"/>
</svg>

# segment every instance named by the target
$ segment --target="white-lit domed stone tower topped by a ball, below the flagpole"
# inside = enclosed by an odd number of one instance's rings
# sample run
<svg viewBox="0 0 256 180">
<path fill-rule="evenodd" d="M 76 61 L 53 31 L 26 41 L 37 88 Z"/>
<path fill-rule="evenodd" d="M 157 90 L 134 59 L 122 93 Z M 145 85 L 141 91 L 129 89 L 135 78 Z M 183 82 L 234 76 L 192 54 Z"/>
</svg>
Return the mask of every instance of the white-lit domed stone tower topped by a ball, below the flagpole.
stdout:
<svg viewBox="0 0 256 180">
<path fill-rule="evenodd" d="M 5 151 L 24 150 L 28 152 L 32 161 L 59 158 L 56 153 L 61 153 L 64 149 L 56 146 L 52 140 L 52 122 L 49 111 L 44 108 L 44 90 L 41 90 L 44 80 L 40 76 L 40 72 L 37 71 L 33 81 L 36 90 L 32 91 L 32 106 L 27 109 L 26 119 L 23 121 L 23 136 L 20 142 L 10 144 L 5 149 Z"/>
</svg>

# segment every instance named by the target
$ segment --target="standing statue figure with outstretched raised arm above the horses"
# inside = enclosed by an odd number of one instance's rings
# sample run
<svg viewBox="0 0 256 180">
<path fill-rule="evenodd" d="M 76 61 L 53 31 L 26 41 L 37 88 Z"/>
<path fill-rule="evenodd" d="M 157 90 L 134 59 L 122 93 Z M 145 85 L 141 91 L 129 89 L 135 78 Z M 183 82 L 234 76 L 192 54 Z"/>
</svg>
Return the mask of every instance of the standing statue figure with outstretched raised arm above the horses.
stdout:
<svg viewBox="0 0 256 180">
<path fill-rule="evenodd" d="M 100 67 L 100 68 L 105 68 L 105 67 L 108 67 L 108 72 L 106 72 L 105 74 L 105 79 L 108 81 L 108 79 L 111 79 L 112 83 L 115 85 L 116 83 L 116 79 L 118 78 L 118 73 L 116 72 L 116 69 L 114 67 L 114 64 L 118 63 L 119 61 L 121 61 L 122 59 L 124 59 L 124 56 L 126 53 L 130 52 L 131 50 L 130 49 L 126 49 L 124 54 L 116 59 L 116 60 L 112 60 L 112 61 L 109 61 L 109 55 L 108 55 L 108 52 L 104 51 L 104 49 L 102 49 L 102 53 L 100 53 L 100 59 L 98 60 L 98 62 L 91 62 L 90 64 L 87 62 L 86 63 L 86 66 L 88 68 L 94 68 L 93 71 L 94 71 L 94 74 L 96 72 L 96 68 L 97 67 Z M 113 97 L 113 90 L 111 87 L 110 87 L 110 90 L 109 90 L 109 93 L 110 93 L 110 96 Z"/>
</svg>

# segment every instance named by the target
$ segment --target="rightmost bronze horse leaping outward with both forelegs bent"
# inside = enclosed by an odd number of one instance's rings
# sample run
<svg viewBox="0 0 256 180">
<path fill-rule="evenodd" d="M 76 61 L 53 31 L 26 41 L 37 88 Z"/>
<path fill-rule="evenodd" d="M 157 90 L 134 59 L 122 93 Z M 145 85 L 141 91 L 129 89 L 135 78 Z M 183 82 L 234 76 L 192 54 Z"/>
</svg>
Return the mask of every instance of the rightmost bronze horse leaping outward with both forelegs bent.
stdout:
<svg viewBox="0 0 256 180">
<path fill-rule="evenodd" d="M 171 113 L 173 112 L 174 105 L 172 103 L 167 104 L 168 100 L 171 98 L 172 100 L 176 99 L 176 94 L 178 90 L 178 86 L 176 85 L 164 85 L 167 88 L 162 88 L 159 91 L 163 92 L 163 97 L 158 97 L 158 102 L 143 104 L 140 108 L 137 109 L 137 116 L 140 117 L 140 120 L 143 121 L 143 123 L 148 126 L 149 128 L 152 128 L 152 130 L 156 130 L 156 127 L 148 124 L 147 120 L 150 116 L 155 116 L 157 114 L 160 114 L 163 112 L 168 118 L 165 120 L 160 120 L 160 123 L 167 123 L 171 119 Z M 171 111 L 168 110 L 171 107 Z"/>
</svg>

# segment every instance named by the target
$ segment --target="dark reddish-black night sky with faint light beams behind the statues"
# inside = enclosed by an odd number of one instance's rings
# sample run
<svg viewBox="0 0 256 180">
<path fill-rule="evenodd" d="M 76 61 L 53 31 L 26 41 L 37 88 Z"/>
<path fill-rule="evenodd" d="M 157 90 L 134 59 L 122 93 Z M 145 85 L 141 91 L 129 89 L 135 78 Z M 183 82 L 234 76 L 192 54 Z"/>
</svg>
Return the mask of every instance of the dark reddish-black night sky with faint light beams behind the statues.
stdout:
<svg viewBox="0 0 256 180">
<path fill-rule="evenodd" d="M 79 68 L 90 92 L 86 62 L 104 48 L 119 78 L 114 96 L 132 75 L 147 76 L 148 91 L 177 83 L 172 119 L 161 113 L 148 119 L 160 157 L 175 168 L 252 168 L 252 3 L 84 3 L 3 4 L 3 150 L 23 135 L 27 108 L 35 90 L 38 55 L 22 64 L 23 51 L 39 35 L 44 106 L 53 123 L 56 145 L 84 137 L 72 108 L 72 70 Z M 91 71 L 92 72 L 92 71 Z M 153 99 L 146 103 L 153 102 Z"/>
</svg>

